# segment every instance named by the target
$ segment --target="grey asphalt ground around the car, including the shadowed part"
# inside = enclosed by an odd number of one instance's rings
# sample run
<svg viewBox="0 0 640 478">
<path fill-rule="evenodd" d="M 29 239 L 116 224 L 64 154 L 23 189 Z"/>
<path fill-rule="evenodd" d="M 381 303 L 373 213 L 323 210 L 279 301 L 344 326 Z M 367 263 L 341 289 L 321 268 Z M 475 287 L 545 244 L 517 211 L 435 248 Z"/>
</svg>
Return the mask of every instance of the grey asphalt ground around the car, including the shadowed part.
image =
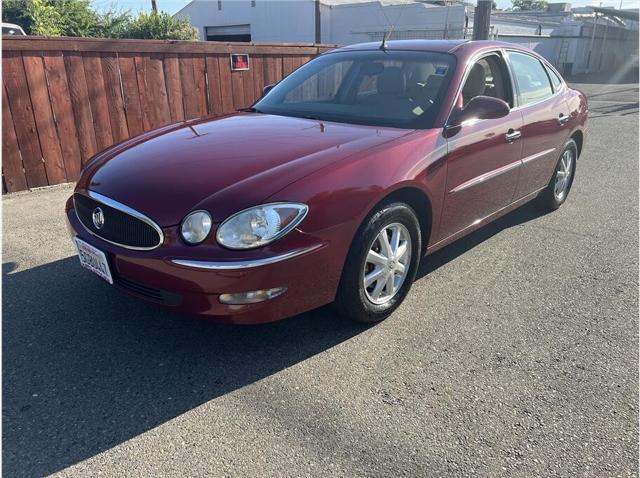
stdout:
<svg viewBox="0 0 640 478">
<path fill-rule="evenodd" d="M 638 85 L 610 79 L 577 79 L 568 202 L 425 259 L 375 326 L 172 315 L 80 268 L 70 186 L 5 196 L 3 475 L 637 476 Z"/>
</svg>

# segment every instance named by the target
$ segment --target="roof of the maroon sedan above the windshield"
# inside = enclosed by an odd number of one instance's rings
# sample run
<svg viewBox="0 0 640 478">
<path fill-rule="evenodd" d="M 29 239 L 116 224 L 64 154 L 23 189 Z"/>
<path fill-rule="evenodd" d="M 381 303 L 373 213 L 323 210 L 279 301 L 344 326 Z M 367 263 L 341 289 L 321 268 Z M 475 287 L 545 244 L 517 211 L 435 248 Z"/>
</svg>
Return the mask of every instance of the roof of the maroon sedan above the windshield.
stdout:
<svg viewBox="0 0 640 478">
<path fill-rule="evenodd" d="M 357 43 L 348 45 L 332 52 L 355 51 L 355 50 L 377 50 L 380 48 L 381 42 Z M 515 43 L 507 43 L 494 40 L 391 40 L 386 43 L 387 51 L 433 51 L 442 53 L 463 53 L 465 55 L 472 54 L 476 51 L 486 48 L 510 48 L 514 50 L 525 50 Z"/>
</svg>

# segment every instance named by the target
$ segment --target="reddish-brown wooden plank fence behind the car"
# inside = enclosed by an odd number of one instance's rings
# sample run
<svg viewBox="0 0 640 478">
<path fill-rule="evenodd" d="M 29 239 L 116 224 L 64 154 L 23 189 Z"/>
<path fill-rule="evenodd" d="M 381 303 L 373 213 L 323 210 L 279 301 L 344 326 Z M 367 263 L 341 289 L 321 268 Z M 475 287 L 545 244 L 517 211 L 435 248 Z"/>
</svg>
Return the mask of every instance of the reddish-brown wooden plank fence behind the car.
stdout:
<svg viewBox="0 0 640 478">
<path fill-rule="evenodd" d="M 143 131 L 250 106 L 328 45 L 4 37 L 3 192 L 74 181 Z M 230 54 L 250 68 L 232 71 Z"/>
</svg>

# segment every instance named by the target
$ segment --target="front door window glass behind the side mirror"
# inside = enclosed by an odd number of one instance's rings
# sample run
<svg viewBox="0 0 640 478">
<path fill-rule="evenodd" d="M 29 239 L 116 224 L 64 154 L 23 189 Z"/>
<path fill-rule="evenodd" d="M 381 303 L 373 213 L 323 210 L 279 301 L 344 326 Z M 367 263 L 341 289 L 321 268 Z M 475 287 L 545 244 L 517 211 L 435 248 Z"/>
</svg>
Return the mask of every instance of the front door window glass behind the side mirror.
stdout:
<svg viewBox="0 0 640 478">
<path fill-rule="evenodd" d="M 502 58 L 498 55 L 481 58 L 471 67 L 462 88 L 459 106 L 466 106 L 476 96 L 492 96 L 513 106 L 509 77 Z"/>
</svg>

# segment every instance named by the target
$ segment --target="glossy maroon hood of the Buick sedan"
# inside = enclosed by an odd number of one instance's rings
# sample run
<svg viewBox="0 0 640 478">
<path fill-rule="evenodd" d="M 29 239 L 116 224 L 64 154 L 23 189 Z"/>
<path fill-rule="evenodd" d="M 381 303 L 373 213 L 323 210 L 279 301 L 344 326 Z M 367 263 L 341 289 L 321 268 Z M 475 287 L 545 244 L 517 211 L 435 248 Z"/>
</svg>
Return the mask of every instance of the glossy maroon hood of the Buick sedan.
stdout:
<svg viewBox="0 0 640 478">
<path fill-rule="evenodd" d="M 200 208 L 219 222 L 331 162 L 408 132 L 265 114 L 187 121 L 98 155 L 78 189 L 115 199 L 163 227 Z"/>
</svg>

